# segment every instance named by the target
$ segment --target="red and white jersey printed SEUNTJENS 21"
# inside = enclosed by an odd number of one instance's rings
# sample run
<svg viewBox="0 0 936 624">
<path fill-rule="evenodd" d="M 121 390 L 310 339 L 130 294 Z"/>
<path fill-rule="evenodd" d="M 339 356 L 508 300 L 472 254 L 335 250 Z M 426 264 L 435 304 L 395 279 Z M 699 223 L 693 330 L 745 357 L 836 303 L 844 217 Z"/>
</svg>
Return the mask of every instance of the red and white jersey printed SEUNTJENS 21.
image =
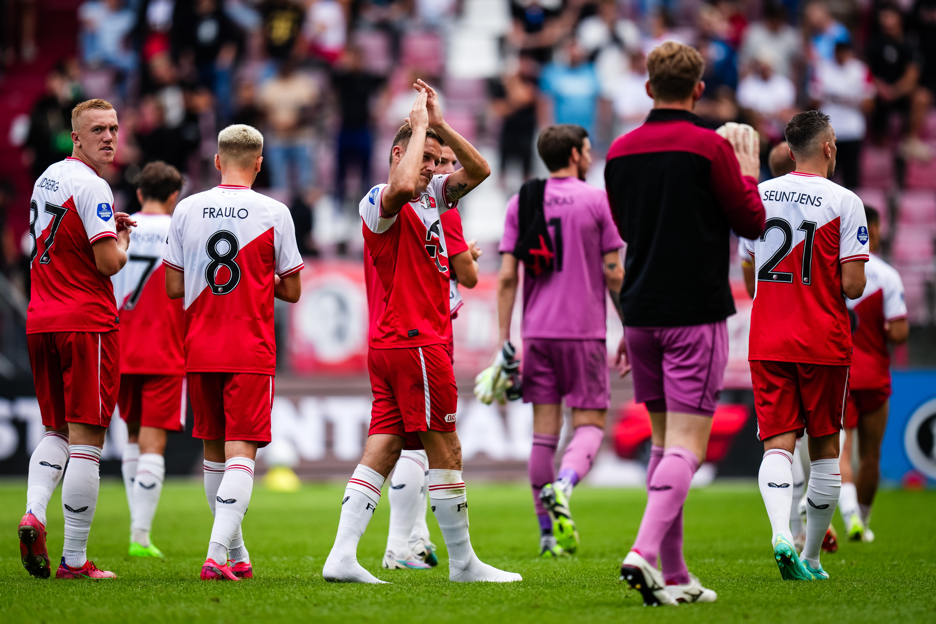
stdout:
<svg viewBox="0 0 936 624">
<path fill-rule="evenodd" d="M 757 188 L 767 221 L 760 239 L 743 241 L 756 279 L 748 359 L 851 364 L 841 263 L 868 260 L 864 204 L 811 174 L 788 173 Z"/>
</svg>

